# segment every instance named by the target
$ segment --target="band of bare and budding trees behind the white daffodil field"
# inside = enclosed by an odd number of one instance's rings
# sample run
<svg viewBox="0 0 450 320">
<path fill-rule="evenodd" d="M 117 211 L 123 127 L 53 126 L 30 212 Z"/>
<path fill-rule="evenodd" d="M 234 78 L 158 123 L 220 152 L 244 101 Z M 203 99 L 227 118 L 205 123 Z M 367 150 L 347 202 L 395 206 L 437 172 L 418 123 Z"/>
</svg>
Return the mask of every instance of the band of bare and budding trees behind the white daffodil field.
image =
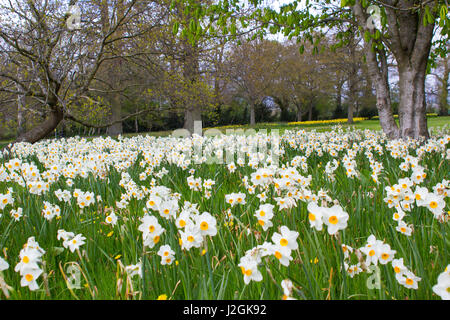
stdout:
<svg viewBox="0 0 450 320">
<path fill-rule="evenodd" d="M 296 1 L 277 12 L 263 1 L 250 2 L 2 3 L 0 138 L 35 142 L 180 127 L 192 132 L 198 120 L 208 127 L 332 118 L 352 123 L 355 116 L 375 115 L 390 137 L 426 136 L 426 127 L 411 128 L 423 112 L 436 106 L 448 115 L 449 58 L 437 54 L 448 43 L 427 38 L 439 21 L 445 40 L 448 19 L 440 5 L 430 7 L 438 12 L 436 21 L 413 2 L 411 8 L 407 2 L 382 8 L 382 31 L 396 17 L 400 29 L 394 31 L 428 50 L 425 62 L 417 64 L 423 69 L 425 63 L 427 73 L 420 73 L 405 66 L 407 55 L 418 49 L 401 53 L 395 47 L 399 35 L 384 39 L 359 21 L 370 17 L 367 1 L 322 4 L 322 20 L 298 9 Z M 423 16 L 428 22 L 416 29 L 400 23 Z M 273 40 L 268 33 L 285 37 Z M 425 77 L 430 81 L 416 92 L 408 77 L 419 81 L 419 89 Z M 423 101 L 408 102 L 405 92 Z M 408 108 L 424 111 L 416 110 L 416 120 L 408 122 Z M 392 122 L 394 113 L 400 114 L 400 127 Z"/>
</svg>

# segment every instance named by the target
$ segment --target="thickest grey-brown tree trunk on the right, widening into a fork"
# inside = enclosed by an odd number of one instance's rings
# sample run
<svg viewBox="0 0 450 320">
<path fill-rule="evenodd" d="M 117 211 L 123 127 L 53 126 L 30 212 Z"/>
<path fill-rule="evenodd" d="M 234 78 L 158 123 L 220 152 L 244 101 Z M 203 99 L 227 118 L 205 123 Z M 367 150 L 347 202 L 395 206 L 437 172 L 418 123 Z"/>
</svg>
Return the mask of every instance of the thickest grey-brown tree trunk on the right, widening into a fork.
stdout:
<svg viewBox="0 0 450 320">
<path fill-rule="evenodd" d="M 437 2 L 423 4 L 430 11 Z M 392 51 L 399 73 L 399 122 L 402 138 L 429 138 L 425 77 L 433 39 L 433 23 L 425 23 L 425 10 L 406 9 L 411 1 L 399 0 L 396 10 L 386 8 L 389 49 Z"/>
</svg>

